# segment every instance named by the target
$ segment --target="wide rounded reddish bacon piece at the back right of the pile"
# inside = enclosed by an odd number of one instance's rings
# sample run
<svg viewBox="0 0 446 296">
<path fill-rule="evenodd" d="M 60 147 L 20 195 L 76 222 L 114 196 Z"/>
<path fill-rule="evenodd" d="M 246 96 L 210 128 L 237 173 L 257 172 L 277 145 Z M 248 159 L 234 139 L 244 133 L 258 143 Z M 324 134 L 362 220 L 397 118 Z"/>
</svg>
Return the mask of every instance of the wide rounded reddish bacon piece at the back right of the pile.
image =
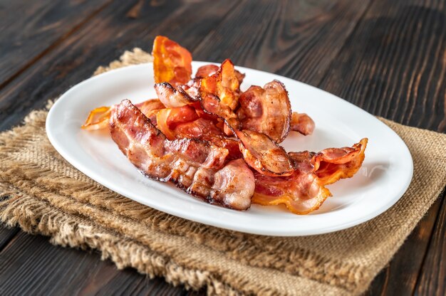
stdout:
<svg viewBox="0 0 446 296">
<path fill-rule="evenodd" d="M 285 86 L 279 80 L 266 83 L 264 88 L 252 85 L 239 98 L 237 112 L 243 129 L 268 135 L 276 143 L 289 134 L 291 104 Z"/>
</svg>

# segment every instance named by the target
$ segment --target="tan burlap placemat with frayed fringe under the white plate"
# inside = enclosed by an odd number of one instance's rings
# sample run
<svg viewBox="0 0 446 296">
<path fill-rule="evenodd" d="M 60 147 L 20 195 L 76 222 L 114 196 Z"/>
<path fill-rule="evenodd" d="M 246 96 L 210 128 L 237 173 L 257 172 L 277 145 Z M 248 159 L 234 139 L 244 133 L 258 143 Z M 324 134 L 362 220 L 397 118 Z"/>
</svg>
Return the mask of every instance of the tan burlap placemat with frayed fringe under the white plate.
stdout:
<svg viewBox="0 0 446 296">
<path fill-rule="evenodd" d="M 148 60 L 135 49 L 97 73 Z M 0 134 L 0 220 L 57 245 L 99 250 L 118 268 L 206 286 L 209 294 L 360 294 L 446 184 L 446 134 L 383 120 L 408 144 L 415 165 L 395 206 L 336 233 L 254 236 L 170 216 L 104 188 L 53 149 L 46 115 L 31 112 L 23 126 Z"/>
</svg>

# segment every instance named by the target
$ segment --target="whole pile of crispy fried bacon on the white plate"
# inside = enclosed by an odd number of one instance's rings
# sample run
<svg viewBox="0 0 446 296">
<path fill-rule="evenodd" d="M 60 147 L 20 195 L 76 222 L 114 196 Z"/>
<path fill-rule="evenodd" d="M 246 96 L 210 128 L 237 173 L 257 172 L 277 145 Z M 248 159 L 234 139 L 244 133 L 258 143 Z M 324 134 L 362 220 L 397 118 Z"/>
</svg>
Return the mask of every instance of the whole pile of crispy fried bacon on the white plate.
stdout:
<svg viewBox="0 0 446 296">
<path fill-rule="evenodd" d="M 120 150 L 151 179 L 172 181 L 208 203 L 246 210 L 251 203 L 306 214 L 321 206 L 326 185 L 350 178 L 367 139 L 321 152 L 286 152 L 290 131 L 311 134 L 314 122 L 291 112 L 278 80 L 240 90 L 244 74 L 231 60 L 204 65 L 192 78 L 192 55 L 164 36 L 153 44 L 157 99 L 99 107 L 83 129 L 110 129 Z"/>
</svg>

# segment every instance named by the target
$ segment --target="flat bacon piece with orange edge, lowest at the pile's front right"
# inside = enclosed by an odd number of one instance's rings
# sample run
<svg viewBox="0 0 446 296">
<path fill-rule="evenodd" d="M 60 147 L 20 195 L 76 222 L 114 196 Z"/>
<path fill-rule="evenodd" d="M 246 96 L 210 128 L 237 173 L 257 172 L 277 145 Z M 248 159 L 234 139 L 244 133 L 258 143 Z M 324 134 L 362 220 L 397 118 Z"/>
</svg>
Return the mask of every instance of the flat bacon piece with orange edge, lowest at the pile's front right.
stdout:
<svg viewBox="0 0 446 296">
<path fill-rule="evenodd" d="M 255 174 L 252 203 L 273 206 L 284 203 L 292 213 L 304 215 L 317 210 L 331 193 L 316 174 L 296 170 L 291 176 Z"/>
</svg>

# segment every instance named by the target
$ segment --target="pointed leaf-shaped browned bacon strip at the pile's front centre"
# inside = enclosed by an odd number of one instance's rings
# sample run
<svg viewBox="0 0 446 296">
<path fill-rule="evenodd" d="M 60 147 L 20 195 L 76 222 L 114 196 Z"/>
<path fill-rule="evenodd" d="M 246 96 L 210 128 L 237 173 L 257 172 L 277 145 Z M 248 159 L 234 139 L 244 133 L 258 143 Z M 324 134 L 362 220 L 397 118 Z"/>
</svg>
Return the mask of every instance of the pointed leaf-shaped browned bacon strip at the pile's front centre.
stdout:
<svg viewBox="0 0 446 296">
<path fill-rule="evenodd" d="M 236 130 L 239 148 L 245 162 L 265 176 L 289 176 L 294 173 L 294 162 L 284 148 L 266 134 L 245 129 Z"/>
</svg>

